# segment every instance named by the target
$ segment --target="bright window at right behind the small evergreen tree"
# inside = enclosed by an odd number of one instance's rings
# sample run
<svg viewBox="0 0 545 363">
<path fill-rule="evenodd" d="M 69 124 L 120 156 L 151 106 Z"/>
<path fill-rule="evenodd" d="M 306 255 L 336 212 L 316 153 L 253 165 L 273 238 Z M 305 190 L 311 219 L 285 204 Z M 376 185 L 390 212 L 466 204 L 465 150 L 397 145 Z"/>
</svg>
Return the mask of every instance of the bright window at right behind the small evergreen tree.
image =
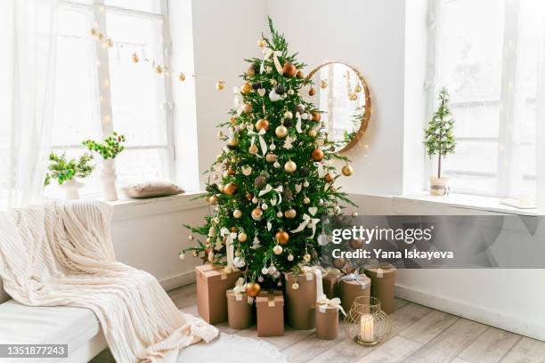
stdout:
<svg viewBox="0 0 545 363">
<path fill-rule="evenodd" d="M 446 86 L 458 142 L 456 153 L 444 160 L 451 190 L 534 198 L 543 1 L 430 4 L 428 113 L 435 109 L 438 90 Z M 433 170 L 435 160 L 428 169 Z"/>
</svg>

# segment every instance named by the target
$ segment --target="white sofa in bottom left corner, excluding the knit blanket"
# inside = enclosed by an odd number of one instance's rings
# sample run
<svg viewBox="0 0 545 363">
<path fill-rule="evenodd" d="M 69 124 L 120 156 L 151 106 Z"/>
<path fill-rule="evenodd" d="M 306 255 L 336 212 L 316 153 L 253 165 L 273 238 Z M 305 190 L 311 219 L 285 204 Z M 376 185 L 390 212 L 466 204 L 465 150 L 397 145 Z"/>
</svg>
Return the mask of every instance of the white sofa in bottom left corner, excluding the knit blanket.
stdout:
<svg viewBox="0 0 545 363">
<path fill-rule="evenodd" d="M 46 362 L 88 362 L 107 347 L 93 311 L 68 306 L 30 307 L 4 292 L 0 279 L 0 344 L 68 344 L 68 359 Z M 40 359 L 0 359 L 14 363 Z"/>
</svg>

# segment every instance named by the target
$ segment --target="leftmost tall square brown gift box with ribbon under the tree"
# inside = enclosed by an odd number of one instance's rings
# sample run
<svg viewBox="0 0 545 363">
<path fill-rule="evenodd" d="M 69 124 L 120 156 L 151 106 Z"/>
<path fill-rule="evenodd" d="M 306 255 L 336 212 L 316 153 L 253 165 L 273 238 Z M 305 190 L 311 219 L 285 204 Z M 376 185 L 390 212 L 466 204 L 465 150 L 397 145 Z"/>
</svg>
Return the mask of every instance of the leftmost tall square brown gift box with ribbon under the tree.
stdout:
<svg viewBox="0 0 545 363">
<path fill-rule="evenodd" d="M 240 278 L 240 271 L 224 272 L 224 266 L 204 264 L 195 267 L 197 311 L 207 323 L 227 320 L 227 290 Z"/>
</svg>

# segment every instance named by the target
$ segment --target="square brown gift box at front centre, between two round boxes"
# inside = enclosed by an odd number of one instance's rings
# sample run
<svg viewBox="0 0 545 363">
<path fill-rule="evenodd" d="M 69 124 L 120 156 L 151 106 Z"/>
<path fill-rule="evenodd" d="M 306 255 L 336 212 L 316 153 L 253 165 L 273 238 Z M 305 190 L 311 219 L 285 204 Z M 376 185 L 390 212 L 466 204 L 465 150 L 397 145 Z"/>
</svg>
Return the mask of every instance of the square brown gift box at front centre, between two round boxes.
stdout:
<svg viewBox="0 0 545 363">
<path fill-rule="evenodd" d="M 281 291 L 262 291 L 256 297 L 257 336 L 284 335 L 284 296 Z"/>
</svg>

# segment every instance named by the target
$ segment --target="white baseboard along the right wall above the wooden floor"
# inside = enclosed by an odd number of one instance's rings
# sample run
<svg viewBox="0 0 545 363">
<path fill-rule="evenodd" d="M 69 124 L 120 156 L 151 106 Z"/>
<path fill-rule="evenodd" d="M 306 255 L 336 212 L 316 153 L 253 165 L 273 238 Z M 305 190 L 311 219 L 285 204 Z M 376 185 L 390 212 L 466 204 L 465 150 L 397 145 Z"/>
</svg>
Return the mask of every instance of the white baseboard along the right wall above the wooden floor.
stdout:
<svg viewBox="0 0 545 363">
<path fill-rule="evenodd" d="M 438 311 L 448 312 L 459 317 L 474 320 L 492 327 L 499 327 L 519 335 L 529 336 L 545 342 L 545 322 L 525 321 L 506 316 L 499 312 L 489 311 L 475 305 L 444 299 L 406 286 L 395 285 L 395 295 L 411 303 L 419 303 Z"/>
</svg>

